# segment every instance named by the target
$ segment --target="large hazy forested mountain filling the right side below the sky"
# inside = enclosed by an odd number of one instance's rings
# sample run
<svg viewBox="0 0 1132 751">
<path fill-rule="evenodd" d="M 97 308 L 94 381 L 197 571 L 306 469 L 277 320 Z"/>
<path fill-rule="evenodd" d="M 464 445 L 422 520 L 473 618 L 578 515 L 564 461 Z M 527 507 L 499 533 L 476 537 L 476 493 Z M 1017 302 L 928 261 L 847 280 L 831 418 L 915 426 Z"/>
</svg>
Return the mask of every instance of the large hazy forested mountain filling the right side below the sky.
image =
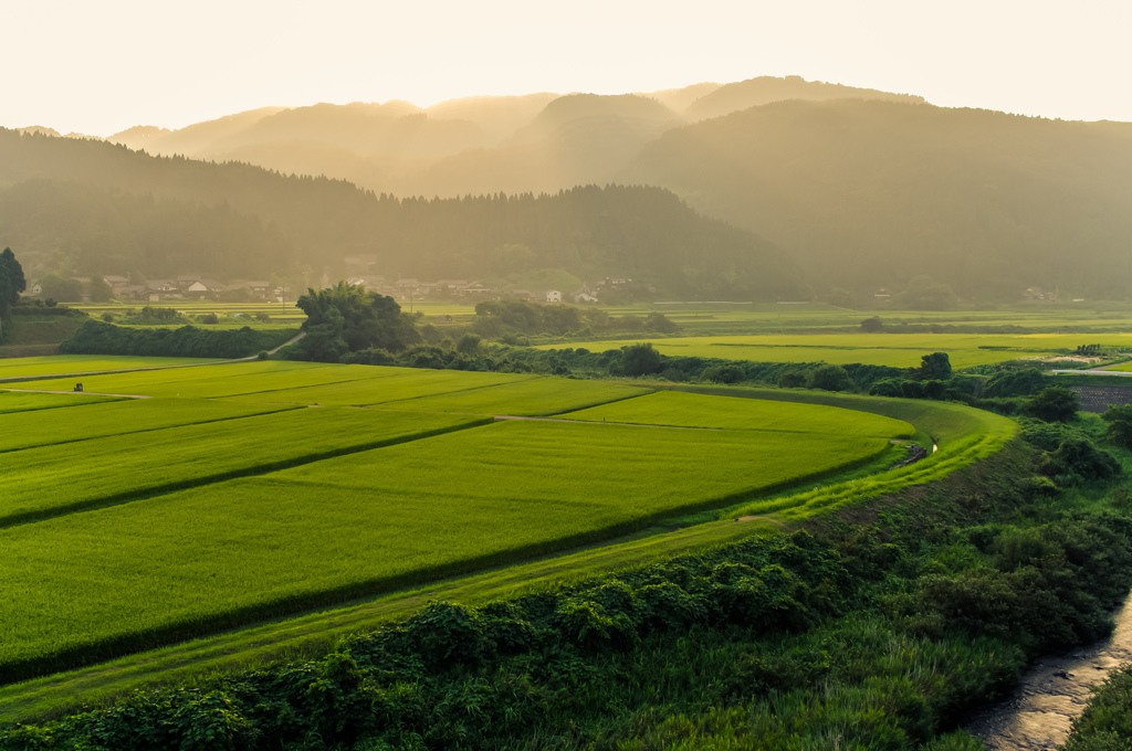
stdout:
<svg viewBox="0 0 1132 751">
<path fill-rule="evenodd" d="M 817 288 L 917 275 L 961 296 L 1132 293 L 1132 126 L 780 102 L 670 130 L 616 176 L 757 227 Z"/>
</svg>

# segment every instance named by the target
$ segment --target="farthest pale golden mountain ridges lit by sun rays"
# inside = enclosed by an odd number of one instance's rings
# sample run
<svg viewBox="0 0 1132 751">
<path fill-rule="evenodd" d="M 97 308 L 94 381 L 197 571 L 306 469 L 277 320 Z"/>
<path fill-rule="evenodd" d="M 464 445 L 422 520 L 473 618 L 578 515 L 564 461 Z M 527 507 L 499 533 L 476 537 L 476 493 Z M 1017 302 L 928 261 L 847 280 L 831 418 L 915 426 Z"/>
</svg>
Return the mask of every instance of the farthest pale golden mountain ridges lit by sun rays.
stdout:
<svg viewBox="0 0 1132 751">
<path fill-rule="evenodd" d="M 468 97 L 266 107 L 180 130 L 139 127 L 108 140 L 149 154 L 238 161 L 326 175 L 395 195 L 555 191 L 604 182 L 664 130 L 780 98 L 921 97 L 760 77 L 655 93 Z"/>
</svg>

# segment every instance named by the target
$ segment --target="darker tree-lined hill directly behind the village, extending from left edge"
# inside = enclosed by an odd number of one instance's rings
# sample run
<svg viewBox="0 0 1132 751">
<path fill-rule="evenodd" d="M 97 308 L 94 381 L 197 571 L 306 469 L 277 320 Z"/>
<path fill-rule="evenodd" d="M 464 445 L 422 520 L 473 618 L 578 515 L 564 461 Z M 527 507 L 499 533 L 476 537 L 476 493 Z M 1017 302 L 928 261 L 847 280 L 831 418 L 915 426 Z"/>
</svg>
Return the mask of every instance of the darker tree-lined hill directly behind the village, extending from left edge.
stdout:
<svg viewBox="0 0 1132 751">
<path fill-rule="evenodd" d="M 325 178 L 8 130 L 0 245 L 29 256 L 33 268 L 84 275 L 223 278 L 258 268 L 265 277 L 306 266 L 337 277 L 345 257 L 371 256 L 371 270 L 389 279 L 560 269 L 628 276 L 666 295 L 801 294 L 797 267 L 773 247 L 662 189 L 396 199 Z"/>
</svg>

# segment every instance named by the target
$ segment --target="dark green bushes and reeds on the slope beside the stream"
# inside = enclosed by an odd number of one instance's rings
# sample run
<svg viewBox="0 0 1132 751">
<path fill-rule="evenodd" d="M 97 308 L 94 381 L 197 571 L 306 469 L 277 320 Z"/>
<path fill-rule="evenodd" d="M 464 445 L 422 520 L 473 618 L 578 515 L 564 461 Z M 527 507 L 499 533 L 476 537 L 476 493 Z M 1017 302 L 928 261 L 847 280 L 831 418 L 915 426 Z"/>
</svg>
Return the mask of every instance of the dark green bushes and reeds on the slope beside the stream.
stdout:
<svg viewBox="0 0 1132 751">
<path fill-rule="evenodd" d="M 1040 450 L 1015 443 L 871 524 L 432 603 L 317 658 L 138 692 L 0 745 L 978 749 L 954 730 L 963 713 L 1029 658 L 1109 632 L 1132 586 L 1127 503 L 1100 480 L 1050 503 Z M 1121 711 L 1090 722 L 1106 714 Z"/>
</svg>

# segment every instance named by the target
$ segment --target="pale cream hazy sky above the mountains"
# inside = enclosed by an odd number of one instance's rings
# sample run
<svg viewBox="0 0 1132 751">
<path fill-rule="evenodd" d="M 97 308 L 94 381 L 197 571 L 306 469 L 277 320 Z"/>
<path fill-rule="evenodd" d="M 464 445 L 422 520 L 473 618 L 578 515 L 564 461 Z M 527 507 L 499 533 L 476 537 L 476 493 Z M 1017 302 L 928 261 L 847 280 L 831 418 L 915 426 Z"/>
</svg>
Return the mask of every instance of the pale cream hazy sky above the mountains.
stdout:
<svg viewBox="0 0 1132 751">
<path fill-rule="evenodd" d="M 0 0 L 0 126 L 799 75 L 1132 121 L 1132 0 Z"/>
</svg>

